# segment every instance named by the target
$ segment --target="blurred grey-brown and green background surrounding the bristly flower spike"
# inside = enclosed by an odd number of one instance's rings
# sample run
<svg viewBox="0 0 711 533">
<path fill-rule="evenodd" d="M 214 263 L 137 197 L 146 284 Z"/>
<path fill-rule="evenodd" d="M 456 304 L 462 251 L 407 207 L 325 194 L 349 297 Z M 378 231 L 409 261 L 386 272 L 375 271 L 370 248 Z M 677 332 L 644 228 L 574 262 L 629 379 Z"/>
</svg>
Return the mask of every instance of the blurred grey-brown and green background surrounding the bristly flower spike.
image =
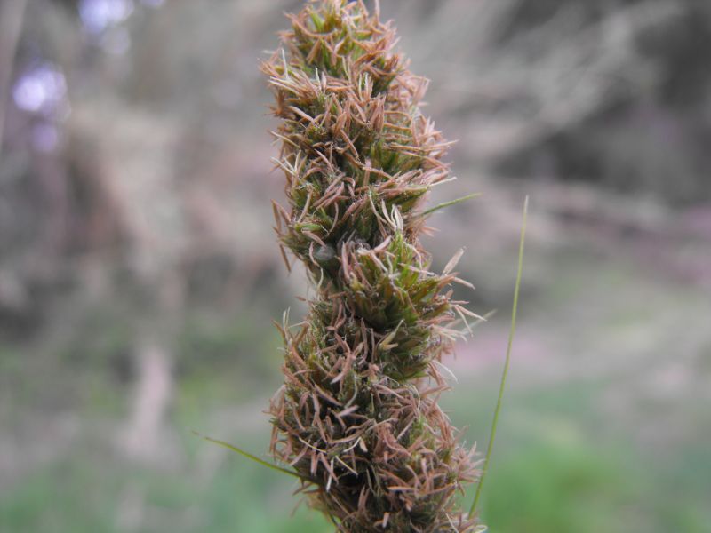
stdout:
<svg viewBox="0 0 711 533">
<path fill-rule="evenodd" d="M 324 533 L 266 454 L 304 313 L 258 72 L 296 0 L 0 0 L 0 531 Z M 711 3 L 382 0 L 459 180 L 443 404 L 486 445 L 524 195 L 497 533 L 708 533 Z M 298 318 L 294 319 L 295 321 Z M 473 493 L 467 495 L 467 503 Z M 296 511 L 294 511 L 294 509 Z"/>
</svg>

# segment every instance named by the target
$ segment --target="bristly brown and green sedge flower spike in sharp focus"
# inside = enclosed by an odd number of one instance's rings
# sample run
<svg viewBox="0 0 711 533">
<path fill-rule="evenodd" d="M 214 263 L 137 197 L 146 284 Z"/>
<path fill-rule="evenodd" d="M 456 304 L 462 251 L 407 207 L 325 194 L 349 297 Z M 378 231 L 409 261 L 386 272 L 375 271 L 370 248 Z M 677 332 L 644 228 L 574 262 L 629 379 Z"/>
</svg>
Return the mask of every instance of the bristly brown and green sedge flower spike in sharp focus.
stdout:
<svg viewBox="0 0 711 533">
<path fill-rule="evenodd" d="M 451 299 L 467 284 L 451 272 L 460 254 L 435 274 L 419 243 L 424 197 L 449 178 L 449 145 L 419 107 L 427 80 L 362 2 L 312 1 L 290 19 L 262 66 L 290 207 L 275 203 L 276 231 L 316 298 L 282 328 L 272 452 L 340 531 L 471 532 L 454 500 L 475 481 L 472 452 L 437 399 L 454 322 L 476 315 Z"/>
</svg>

